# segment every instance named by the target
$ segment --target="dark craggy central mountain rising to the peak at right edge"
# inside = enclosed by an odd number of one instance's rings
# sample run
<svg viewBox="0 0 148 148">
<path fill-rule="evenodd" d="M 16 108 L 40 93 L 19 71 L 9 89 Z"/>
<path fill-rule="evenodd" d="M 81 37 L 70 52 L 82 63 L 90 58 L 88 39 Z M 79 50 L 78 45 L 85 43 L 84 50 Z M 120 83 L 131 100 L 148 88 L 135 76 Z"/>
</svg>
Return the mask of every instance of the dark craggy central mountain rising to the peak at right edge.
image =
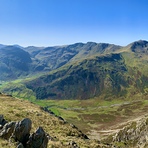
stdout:
<svg viewBox="0 0 148 148">
<path fill-rule="evenodd" d="M 87 44 L 92 48 L 97 45 Z M 147 49 L 146 41 L 137 41 L 115 51 L 116 54 L 100 55 L 93 51 L 98 56 L 89 52 L 86 58 L 76 60 L 82 50 L 69 64 L 25 85 L 35 92 L 37 99 L 87 99 L 101 95 L 113 98 L 147 93 Z"/>
</svg>

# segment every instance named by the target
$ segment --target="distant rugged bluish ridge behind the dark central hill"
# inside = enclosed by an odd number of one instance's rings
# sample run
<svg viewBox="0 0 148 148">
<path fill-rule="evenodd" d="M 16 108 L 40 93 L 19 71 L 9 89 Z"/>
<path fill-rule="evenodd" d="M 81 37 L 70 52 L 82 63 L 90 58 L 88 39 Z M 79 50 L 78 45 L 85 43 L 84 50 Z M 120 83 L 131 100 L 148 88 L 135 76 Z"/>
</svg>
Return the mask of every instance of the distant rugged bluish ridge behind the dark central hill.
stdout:
<svg viewBox="0 0 148 148">
<path fill-rule="evenodd" d="M 55 46 L 47 48 L 26 48 L 31 56 L 40 61 L 41 65 L 46 65 L 46 69 L 57 69 L 70 61 L 86 58 L 90 55 L 111 53 L 118 49 L 120 46 L 88 42 L 86 44 L 76 43 L 67 46 Z M 25 50 L 26 50 L 25 49 Z"/>
</svg>

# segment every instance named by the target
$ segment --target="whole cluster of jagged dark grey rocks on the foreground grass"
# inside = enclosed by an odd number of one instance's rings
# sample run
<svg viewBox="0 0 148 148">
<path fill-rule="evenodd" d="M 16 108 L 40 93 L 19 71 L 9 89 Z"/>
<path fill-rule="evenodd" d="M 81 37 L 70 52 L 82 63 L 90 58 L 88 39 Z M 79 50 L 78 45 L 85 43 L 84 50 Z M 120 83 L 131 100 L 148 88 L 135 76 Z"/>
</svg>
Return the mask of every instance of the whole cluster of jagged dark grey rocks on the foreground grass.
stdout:
<svg viewBox="0 0 148 148">
<path fill-rule="evenodd" d="M 0 123 L 5 121 L 3 116 L 0 116 Z M 35 133 L 30 134 L 32 122 L 29 118 L 25 118 L 18 122 L 8 122 L 5 125 L 1 124 L 0 138 L 7 140 L 14 139 L 19 143 L 17 148 L 47 148 L 49 136 L 42 127 L 39 127 Z"/>
</svg>

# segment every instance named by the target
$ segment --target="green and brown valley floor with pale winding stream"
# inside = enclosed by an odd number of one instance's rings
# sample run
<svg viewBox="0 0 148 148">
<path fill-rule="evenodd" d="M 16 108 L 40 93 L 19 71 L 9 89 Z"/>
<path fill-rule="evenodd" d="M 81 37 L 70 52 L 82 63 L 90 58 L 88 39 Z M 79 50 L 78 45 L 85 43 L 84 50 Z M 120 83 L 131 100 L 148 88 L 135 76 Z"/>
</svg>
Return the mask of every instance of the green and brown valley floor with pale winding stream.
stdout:
<svg viewBox="0 0 148 148">
<path fill-rule="evenodd" d="M 148 99 L 136 100 L 47 100 L 37 104 L 76 125 L 91 139 L 102 140 L 133 121 L 148 115 Z"/>
</svg>

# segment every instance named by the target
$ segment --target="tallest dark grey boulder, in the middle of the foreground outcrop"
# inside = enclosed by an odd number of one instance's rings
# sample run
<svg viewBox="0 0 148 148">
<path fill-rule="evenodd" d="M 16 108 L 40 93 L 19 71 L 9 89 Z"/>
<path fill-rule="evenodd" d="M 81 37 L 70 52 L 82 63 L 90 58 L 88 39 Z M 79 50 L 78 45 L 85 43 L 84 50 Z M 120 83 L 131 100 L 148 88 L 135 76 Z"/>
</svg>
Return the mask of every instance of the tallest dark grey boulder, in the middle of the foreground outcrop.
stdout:
<svg viewBox="0 0 148 148">
<path fill-rule="evenodd" d="M 25 146 L 30 136 L 31 125 L 32 122 L 29 118 L 17 122 L 13 133 L 15 141 L 19 141 Z"/>
</svg>

